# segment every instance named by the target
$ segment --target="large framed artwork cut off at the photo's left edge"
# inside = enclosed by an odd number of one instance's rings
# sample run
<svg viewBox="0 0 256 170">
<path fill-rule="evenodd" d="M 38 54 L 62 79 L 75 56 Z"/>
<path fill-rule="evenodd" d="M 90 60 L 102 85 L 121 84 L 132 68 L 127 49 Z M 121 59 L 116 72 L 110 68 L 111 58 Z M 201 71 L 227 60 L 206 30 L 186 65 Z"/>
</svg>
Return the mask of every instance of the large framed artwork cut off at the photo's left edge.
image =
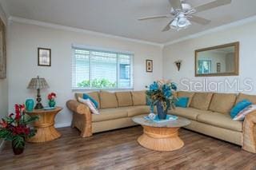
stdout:
<svg viewBox="0 0 256 170">
<path fill-rule="evenodd" d="M 6 26 L 0 18 L 0 78 L 6 78 Z"/>
</svg>

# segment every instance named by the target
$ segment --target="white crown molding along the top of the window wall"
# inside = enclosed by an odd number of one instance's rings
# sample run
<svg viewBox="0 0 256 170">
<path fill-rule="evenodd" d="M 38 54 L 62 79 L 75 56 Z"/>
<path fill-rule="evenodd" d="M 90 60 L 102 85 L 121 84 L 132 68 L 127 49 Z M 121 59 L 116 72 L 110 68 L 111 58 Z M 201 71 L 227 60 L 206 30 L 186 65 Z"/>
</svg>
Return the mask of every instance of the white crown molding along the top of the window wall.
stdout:
<svg viewBox="0 0 256 170">
<path fill-rule="evenodd" d="M 62 25 L 53 24 L 53 23 L 49 23 L 49 22 L 40 22 L 37 20 L 19 18 L 19 17 L 14 17 L 14 16 L 10 16 L 8 18 L 8 23 L 10 24 L 11 22 L 25 23 L 25 24 L 30 24 L 30 25 L 34 25 L 34 26 L 43 26 L 43 27 L 47 27 L 47 28 L 52 28 L 52 29 L 57 29 L 57 30 L 66 30 L 66 31 L 82 33 L 82 34 L 93 34 L 93 35 L 98 35 L 98 36 L 102 36 L 105 38 L 114 38 L 114 39 L 118 39 L 118 40 L 122 40 L 122 41 L 137 42 L 140 44 L 147 44 L 147 45 L 155 45 L 155 46 L 159 46 L 161 48 L 164 47 L 164 44 L 160 44 L 160 43 L 156 43 L 156 42 L 147 42 L 144 40 L 125 38 L 125 37 L 116 36 L 116 35 L 112 35 L 112 34 L 104 34 L 104 33 L 99 33 L 96 31 L 78 29 L 78 28 L 71 27 L 71 26 L 62 26 Z"/>
</svg>

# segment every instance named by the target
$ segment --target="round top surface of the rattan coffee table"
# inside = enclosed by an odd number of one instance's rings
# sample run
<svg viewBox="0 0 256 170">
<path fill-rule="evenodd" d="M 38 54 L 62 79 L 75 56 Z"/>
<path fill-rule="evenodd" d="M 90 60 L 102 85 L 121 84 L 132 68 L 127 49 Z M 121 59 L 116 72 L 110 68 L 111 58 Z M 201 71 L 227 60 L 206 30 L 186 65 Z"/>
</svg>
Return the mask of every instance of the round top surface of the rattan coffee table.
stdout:
<svg viewBox="0 0 256 170">
<path fill-rule="evenodd" d="M 174 121 L 156 123 L 154 121 L 146 120 L 144 118 L 146 116 L 147 114 L 139 115 L 139 116 L 133 117 L 132 120 L 139 125 L 145 125 L 145 126 L 151 126 L 151 127 L 157 127 L 157 128 L 179 128 L 182 126 L 190 125 L 190 121 L 183 117 L 178 117 L 178 119 Z"/>
</svg>

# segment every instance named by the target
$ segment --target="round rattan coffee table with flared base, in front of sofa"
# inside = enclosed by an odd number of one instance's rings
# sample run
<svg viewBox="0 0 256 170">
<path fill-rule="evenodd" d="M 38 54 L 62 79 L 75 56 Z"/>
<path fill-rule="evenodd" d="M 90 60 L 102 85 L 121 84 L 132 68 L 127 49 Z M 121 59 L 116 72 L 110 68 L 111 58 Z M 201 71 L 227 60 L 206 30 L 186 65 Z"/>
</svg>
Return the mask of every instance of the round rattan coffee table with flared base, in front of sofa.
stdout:
<svg viewBox="0 0 256 170">
<path fill-rule="evenodd" d="M 140 115 L 133 117 L 133 121 L 144 128 L 142 136 L 138 137 L 138 143 L 145 148 L 155 151 L 174 151 L 182 148 L 184 142 L 178 136 L 178 129 L 190 125 L 186 118 L 178 117 L 175 121 L 156 123 L 147 121 Z"/>
</svg>

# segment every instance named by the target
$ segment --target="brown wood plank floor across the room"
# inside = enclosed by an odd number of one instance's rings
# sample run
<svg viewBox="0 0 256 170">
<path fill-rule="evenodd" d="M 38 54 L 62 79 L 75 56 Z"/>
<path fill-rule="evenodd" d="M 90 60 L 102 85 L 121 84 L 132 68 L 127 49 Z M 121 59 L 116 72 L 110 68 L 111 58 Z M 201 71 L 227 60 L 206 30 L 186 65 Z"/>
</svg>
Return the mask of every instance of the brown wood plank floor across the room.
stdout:
<svg viewBox="0 0 256 170">
<path fill-rule="evenodd" d="M 26 144 L 14 156 L 10 143 L 0 153 L 0 169 L 256 169 L 256 154 L 234 144 L 180 130 L 184 147 L 174 152 L 142 148 L 142 127 L 79 136 L 75 128 L 58 128 L 62 137 L 43 144 Z"/>
</svg>

